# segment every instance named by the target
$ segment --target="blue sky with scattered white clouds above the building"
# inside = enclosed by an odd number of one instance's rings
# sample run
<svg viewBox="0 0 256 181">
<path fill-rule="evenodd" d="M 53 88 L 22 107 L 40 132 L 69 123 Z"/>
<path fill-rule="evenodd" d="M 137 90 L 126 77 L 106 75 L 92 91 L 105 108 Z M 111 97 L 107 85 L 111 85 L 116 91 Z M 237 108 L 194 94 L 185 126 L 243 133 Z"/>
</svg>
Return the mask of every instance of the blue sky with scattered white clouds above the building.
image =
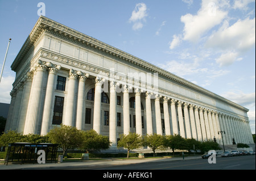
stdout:
<svg viewBox="0 0 256 181">
<path fill-rule="evenodd" d="M 248 108 L 255 133 L 255 0 L 0 0 L 0 102 L 10 103 L 10 66 L 46 17 L 166 69 Z"/>
</svg>

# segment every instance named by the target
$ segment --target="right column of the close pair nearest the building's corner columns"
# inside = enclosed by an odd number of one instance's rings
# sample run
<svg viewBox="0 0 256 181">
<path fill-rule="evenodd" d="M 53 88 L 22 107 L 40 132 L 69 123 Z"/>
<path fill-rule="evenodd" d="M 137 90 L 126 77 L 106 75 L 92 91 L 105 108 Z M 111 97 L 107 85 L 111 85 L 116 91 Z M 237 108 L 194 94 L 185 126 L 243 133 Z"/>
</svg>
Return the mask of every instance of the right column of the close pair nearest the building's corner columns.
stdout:
<svg viewBox="0 0 256 181">
<path fill-rule="evenodd" d="M 77 95 L 76 128 L 82 130 L 82 121 L 85 120 L 85 81 L 89 74 L 79 71 L 79 90 Z"/>
</svg>

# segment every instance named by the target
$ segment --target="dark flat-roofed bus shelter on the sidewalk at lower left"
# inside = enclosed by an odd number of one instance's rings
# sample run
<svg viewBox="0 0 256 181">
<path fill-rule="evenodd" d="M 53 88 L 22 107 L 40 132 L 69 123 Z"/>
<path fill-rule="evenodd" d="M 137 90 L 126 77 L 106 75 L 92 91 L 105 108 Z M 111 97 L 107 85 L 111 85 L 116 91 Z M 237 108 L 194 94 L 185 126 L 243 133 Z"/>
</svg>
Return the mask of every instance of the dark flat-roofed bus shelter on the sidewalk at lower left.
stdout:
<svg viewBox="0 0 256 181">
<path fill-rule="evenodd" d="M 8 145 L 5 164 L 16 163 L 37 163 L 38 158 L 43 158 L 45 162 L 55 162 L 57 160 L 57 144 L 31 144 L 26 142 L 16 142 Z M 43 154 L 42 154 L 43 153 Z"/>
</svg>

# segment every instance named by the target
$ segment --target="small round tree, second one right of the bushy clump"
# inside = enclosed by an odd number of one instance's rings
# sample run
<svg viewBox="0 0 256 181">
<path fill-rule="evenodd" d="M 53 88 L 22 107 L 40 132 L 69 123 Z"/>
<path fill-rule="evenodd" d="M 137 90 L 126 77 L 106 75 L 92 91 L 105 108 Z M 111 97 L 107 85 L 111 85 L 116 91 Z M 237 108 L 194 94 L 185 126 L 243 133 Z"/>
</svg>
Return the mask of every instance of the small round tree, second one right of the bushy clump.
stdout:
<svg viewBox="0 0 256 181">
<path fill-rule="evenodd" d="M 148 146 L 152 149 L 155 157 L 156 149 L 164 149 L 164 136 L 160 134 L 147 134 L 143 137 L 144 146 Z"/>
</svg>

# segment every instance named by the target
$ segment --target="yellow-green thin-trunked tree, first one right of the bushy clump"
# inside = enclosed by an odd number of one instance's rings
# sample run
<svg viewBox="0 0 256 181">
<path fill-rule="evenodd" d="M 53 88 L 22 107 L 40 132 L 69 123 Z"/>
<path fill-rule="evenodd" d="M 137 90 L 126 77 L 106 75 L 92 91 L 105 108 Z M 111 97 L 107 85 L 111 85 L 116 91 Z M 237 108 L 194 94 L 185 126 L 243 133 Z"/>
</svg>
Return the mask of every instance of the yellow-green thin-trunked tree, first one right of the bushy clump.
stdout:
<svg viewBox="0 0 256 181">
<path fill-rule="evenodd" d="M 142 137 L 137 133 L 121 134 L 117 146 L 127 149 L 127 158 L 129 158 L 130 150 L 142 147 Z"/>
</svg>

